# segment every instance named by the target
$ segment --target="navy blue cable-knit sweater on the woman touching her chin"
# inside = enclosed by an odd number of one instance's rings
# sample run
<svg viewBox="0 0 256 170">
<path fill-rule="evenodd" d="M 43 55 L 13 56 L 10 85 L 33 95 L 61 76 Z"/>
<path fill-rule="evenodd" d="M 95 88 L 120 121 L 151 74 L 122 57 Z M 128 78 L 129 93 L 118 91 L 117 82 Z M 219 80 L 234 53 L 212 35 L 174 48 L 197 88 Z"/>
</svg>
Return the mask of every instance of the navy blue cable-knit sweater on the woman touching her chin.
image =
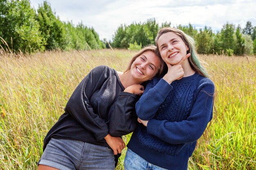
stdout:
<svg viewBox="0 0 256 170">
<path fill-rule="evenodd" d="M 188 159 L 212 119 L 214 84 L 195 73 L 168 84 L 154 78 L 136 103 L 140 119 L 128 148 L 156 166 L 187 170 Z"/>
</svg>

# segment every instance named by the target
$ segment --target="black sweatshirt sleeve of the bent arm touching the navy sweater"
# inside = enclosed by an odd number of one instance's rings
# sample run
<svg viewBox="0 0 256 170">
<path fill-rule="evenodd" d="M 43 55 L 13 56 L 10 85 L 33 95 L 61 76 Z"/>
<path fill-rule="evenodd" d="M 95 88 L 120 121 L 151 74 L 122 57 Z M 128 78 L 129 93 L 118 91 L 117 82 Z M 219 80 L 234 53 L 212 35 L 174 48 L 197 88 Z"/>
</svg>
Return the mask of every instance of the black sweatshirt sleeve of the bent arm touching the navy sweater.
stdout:
<svg viewBox="0 0 256 170">
<path fill-rule="evenodd" d="M 112 137 L 127 135 L 137 128 L 135 103 L 137 96 L 121 92 L 109 113 L 109 134 Z"/>
</svg>

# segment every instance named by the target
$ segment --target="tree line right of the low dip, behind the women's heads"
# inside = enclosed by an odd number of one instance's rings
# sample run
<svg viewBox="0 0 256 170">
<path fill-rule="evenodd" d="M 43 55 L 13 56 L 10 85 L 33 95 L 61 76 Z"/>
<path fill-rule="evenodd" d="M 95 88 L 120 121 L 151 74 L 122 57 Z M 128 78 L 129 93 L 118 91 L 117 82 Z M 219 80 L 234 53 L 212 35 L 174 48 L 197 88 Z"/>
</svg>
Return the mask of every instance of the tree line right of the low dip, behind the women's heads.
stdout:
<svg viewBox="0 0 256 170">
<path fill-rule="evenodd" d="M 112 47 L 140 49 L 141 46 L 154 44 L 157 31 L 164 26 L 171 26 L 165 22 L 160 26 L 155 19 L 146 22 L 121 25 L 113 36 Z M 213 33 L 211 27 L 195 29 L 191 24 L 188 26 L 178 25 L 188 35 L 194 38 L 196 49 L 200 54 L 224 54 L 224 55 L 252 55 L 256 54 L 256 26 L 247 21 L 245 28 L 226 23 L 217 33 Z"/>
</svg>

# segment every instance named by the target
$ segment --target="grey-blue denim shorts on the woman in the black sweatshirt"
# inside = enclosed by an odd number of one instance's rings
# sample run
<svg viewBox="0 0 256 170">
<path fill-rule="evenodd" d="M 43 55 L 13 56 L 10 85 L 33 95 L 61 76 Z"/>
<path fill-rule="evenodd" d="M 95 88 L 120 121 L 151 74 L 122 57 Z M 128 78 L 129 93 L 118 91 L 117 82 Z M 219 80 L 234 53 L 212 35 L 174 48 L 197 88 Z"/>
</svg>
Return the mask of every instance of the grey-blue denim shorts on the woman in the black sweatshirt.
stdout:
<svg viewBox="0 0 256 170">
<path fill-rule="evenodd" d="M 115 170 L 113 150 L 68 139 L 52 138 L 39 164 L 60 170 Z"/>
</svg>

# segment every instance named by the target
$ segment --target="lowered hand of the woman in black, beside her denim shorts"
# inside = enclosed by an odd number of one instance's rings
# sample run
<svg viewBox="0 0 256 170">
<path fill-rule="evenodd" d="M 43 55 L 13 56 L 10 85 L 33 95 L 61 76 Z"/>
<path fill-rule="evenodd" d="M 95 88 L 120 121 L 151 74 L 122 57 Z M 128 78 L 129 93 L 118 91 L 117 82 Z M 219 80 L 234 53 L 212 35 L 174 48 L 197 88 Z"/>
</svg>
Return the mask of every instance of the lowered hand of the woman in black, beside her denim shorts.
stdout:
<svg viewBox="0 0 256 170">
<path fill-rule="evenodd" d="M 125 148 L 124 141 L 121 137 L 112 137 L 110 134 L 108 134 L 106 137 L 104 137 L 104 139 L 110 148 L 114 151 L 114 155 L 121 153 Z"/>
</svg>

